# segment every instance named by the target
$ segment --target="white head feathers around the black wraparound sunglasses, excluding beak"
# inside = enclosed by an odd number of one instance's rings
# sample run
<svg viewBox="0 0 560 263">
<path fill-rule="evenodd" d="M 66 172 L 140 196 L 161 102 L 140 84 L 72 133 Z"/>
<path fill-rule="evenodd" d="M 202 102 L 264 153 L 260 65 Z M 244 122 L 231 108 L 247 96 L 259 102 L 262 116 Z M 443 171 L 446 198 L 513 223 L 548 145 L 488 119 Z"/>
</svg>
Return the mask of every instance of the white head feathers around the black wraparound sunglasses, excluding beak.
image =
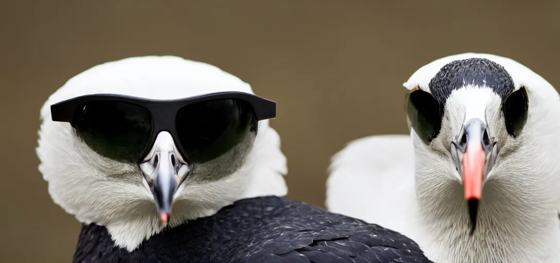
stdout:
<svg viewBox="0 0 560 263">
<path fill-rule="evenodd" d="M 108 160 L 89 149 L 68 123 L 53 122 L 50 105 L 86 94 L 124 94 L 151 99 L 238 91 L 253 93 L 248 83 L 205 63 L 176 56 L 144 56 L 94 66 L 74 76 L 41 109 L 39 171 L 54 202 L 82 223 L 106 226 L 116 245 L 129 251 L 161 231 L 153 195 L 137 166 Z M 286 157 L 278 133 L 268 121 L 245 164 L 234 174 L 210 183 L 188 183 L 179 189 L 169 225 L 210 216 L 242 198 L 287 193 Z"/>
</svg>

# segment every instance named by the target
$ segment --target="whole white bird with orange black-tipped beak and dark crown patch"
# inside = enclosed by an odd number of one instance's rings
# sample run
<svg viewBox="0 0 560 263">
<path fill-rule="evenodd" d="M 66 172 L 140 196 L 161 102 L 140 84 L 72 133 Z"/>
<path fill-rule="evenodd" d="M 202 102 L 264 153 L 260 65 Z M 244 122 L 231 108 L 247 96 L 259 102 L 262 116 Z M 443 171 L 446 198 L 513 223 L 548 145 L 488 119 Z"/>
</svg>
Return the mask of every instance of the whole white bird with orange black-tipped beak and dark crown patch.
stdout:
<svg viewBox="0 0 560 263">
<path fill-rule="evenodd" d="M 330 211 L 395 229 L 435 262 L 560 262 L 552 85 L 515 60 L 467 53 L 432 61 L 404 87 L 410 135 L 340 151 Z"/>
</svg>

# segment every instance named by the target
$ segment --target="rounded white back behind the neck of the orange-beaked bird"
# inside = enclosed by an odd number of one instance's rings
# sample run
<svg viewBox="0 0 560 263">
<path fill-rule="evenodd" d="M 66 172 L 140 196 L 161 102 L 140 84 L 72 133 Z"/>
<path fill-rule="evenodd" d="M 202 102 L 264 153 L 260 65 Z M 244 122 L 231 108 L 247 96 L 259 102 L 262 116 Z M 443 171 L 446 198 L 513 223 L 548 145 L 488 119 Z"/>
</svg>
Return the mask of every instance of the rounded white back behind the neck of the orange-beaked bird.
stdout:
<svg viewBox="0 0 560 263">
<path fill-rule="evenodd" d="M 414 149 L 408 135 L 368 136 L 351 141 L 332 158 L 326 207 L 406 233 L 414 224 Z"/>
</svg>

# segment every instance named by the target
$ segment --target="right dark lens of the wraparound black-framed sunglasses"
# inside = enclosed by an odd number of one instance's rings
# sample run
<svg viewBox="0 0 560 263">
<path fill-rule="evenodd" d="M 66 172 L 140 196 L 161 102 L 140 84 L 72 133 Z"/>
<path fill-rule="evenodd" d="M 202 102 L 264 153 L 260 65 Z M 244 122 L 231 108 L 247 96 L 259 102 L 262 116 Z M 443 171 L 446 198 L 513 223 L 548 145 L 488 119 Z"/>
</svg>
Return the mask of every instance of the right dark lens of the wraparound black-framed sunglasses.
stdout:
<svg viewBox="0 0 560 263">
<path fill-rule="evenodd" d="M 240 99 L 214 99 L 179 109 L 177 133 L 185 157 L 206 162 L 239 145 L 249 132 L 256 132 L 253 108 Z"/>
</svg>

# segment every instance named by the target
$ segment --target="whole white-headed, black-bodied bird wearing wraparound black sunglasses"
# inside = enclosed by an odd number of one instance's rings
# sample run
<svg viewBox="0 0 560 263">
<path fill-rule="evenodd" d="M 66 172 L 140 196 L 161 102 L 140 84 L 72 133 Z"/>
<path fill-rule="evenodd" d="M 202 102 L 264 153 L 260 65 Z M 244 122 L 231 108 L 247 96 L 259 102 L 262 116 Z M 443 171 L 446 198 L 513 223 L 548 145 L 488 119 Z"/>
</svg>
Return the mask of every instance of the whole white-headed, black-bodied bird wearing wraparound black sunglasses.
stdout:
<svg viewBox="0 0 560 263">
<path fill-rule="evenodd" d="M 83 223 L 73 262 L 428 262 L 396 232 L 281 198 L 276 103 L 215 66 L 113 61 L 41 109 L 39 170 Z"/>
</svg>

